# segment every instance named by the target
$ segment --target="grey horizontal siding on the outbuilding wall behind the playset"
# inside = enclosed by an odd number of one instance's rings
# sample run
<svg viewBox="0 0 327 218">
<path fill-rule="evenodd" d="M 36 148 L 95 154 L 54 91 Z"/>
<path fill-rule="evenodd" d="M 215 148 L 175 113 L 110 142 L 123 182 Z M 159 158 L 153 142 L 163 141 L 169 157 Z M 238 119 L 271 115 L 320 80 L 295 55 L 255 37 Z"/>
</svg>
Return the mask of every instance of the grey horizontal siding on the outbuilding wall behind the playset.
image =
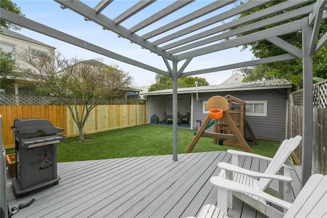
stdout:
<svg viewBox="0 0 327 218">
<path fill-rule="evenodd" d="M 199 93 L 199 100 L 206 101 L 212 96 L 232 95 L 243 101 L 267 100 L 267 117 L 246 116 L 254 135 L 258 139 L 283 140 L 286 133 L 287 90 L 250 90 L 234 92 Z M 203 121 L 207 114 L 203 114 L 202 101 L 194 99 L 193 126 L 200 126 L 196 120 Z M 213 132 L 213 126 L 207 132 Z"/>
</svg>

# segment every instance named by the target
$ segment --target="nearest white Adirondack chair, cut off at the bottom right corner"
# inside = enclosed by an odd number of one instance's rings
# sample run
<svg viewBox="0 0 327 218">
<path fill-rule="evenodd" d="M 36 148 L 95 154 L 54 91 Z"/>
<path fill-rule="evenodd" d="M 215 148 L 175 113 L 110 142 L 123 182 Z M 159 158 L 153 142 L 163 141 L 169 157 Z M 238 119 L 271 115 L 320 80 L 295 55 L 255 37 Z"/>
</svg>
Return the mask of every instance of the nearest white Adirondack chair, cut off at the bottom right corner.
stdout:
<svg viewBox="0 0 327 218">
<path fill-rule="evenodd" d="M 255 195 L 260 199 L 283 207 L 287 212 L 281 213 L 279 217 L 326 217 L 327 215 L 327 175 L 312 175 L 293 203 L 224 178 L 213 177 L 210 181 L 214 186 L 218 187 L 217 207 L 215 205 L 204 205 L 198 217 L 222 217 L 227 214 L 228 191 Z M 267 205 L 267 210 L 275 209 Z"/>
</svg>

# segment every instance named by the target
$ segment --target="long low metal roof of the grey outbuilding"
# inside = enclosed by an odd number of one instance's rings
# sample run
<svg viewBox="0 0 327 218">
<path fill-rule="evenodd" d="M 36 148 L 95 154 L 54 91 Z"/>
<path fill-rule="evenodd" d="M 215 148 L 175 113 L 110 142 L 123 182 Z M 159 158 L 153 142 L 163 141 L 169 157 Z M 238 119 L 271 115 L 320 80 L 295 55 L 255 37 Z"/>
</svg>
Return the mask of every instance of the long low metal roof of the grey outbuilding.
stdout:
<svg viewBox="0 0 327 218">
<path fill-rule="evenodd" d="M 284 89 L 292 88 L 292 83 L 285 79 L 271 79 L 255 82 L 240 82 L 220 85 L 198 86 L 198 92 L 226 92 L 226 91 L 242 91 L 242 90 L 266 90 L 266 89 Z M 178 94 L 196 93 L 196 87 L 177 89 Z M 173 90 L 159 90 L 144 93 L 142 95 L 169 95 L 173 94 Z"/>
</svg>

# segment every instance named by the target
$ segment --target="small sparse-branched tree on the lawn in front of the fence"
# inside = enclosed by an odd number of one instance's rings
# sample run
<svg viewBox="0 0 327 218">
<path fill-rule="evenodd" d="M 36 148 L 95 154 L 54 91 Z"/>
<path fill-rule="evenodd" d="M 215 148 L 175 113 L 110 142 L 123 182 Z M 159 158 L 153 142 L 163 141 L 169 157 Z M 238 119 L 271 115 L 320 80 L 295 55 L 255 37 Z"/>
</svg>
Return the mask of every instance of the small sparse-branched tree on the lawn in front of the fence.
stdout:
<svg viewBox="0 0 327 218">
<path fill-rule="evenodd" d="M 132 77 L 118 66 L 106 66 L 101 59 L 67 59 L 55 50 L 50 50 L 50 54 L 24 50 L 20 58 L 29 67 L 20 71 L 31 77 L 39 92 L 59 98 L 68 107 L 79 128 L 79 141 L 84 141 L 83 127 L 92 109 L 102 99 L 117 96 L 128 88 Z M 82 105 L 81 111 L 78 105 Z"/>
</svg>

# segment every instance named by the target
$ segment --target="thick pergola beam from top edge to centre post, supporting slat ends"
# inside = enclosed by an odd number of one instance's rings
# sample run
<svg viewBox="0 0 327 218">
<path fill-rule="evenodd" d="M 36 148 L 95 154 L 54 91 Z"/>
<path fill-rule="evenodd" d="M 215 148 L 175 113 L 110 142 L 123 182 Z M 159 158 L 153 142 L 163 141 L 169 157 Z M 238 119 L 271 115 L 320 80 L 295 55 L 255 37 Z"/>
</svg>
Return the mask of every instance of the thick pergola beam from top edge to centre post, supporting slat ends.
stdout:
<svg viewBox="0 0 327 218">
<path fill-rule="evenodd" d="M 159 47 L 155 47 L 151 42 L 144 40 L 138 35 L 132 34 L 129 30 L 127 30 L 123 26 L 116 25 L 113 20 L 109 19 L 103 14 L 97 14 L 94 9 L 88 7 L 81 1 L 72 1 L 72 0 L 54 0 L 54 1 L 82 15 L 83 17 L 86 17 L 88 20 L 94 21 L 96 24 L 104 27 L 105 29 L 110 30 L 124 38 L 129 39 L 130 41 L 136 43 L 137 45 L 143 48 L 146 48 L 170 60 L 174 59 L 173 56 L 171 56 L 168 52 L 163 51 Z"/>
</svg>

